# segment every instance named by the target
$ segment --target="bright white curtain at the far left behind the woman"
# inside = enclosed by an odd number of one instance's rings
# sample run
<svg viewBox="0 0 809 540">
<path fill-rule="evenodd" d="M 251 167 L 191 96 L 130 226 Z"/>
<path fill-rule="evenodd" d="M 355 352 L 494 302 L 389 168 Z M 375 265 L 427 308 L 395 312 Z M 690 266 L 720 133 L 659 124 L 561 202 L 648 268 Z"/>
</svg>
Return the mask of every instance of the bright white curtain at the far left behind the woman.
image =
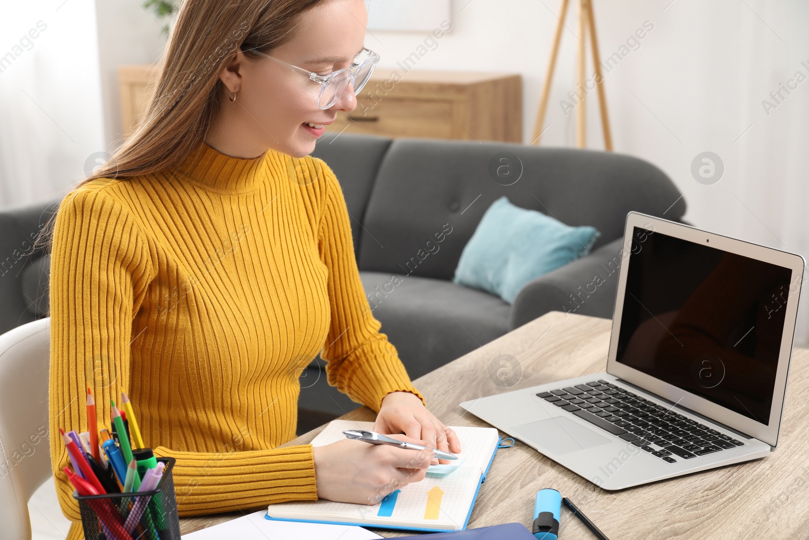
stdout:
<svg viewBox="0 0 809 540">
<path fill-rule="evenodd" d="M 103 148 L 94 5 L 62 2 L 3 6 L 0 207 L 66 193 Z"/>
</svg>

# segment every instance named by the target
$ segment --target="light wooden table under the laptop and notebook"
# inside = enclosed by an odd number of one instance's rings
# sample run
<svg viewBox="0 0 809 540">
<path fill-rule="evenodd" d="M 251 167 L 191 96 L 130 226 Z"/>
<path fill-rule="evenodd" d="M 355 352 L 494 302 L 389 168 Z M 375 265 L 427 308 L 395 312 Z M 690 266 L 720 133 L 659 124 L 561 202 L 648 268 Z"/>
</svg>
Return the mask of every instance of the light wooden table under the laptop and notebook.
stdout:
<svg viewBox="0 0 809 540">
<path fill-rule="evenodd" d="M 414 382 L 443 422 L 485 426 L 458 403 L 604 372 L 610 325 L 607 319 L 548 313 Z M 519 383 L 507 389 L 489 376 L 489 364 L 502 354 L 515 356 L 523 369 Z M 603 491 L 518 441 L 495 457 L 468 526 L 508 521 L 530 526 L 536 491 L 553 487 L 582 508 L 612 540 L 809 538 L 809 432 L 804 420 L 809 417 L 807 359 L 809 351 L 794 350 L 780 444 L 769 457 L 622 491 Z M 375 415 L 362 407 L 341 418 L 373 421 Z M 306 444 L 320 429 L 289 444 Z M 180 526 L 188 533 L 240 515 L 183 518 Z M 405 535 L 374 530 L 385 537 Z M 594 537 L 563 508 L 560 538 Z"/>
</svg>

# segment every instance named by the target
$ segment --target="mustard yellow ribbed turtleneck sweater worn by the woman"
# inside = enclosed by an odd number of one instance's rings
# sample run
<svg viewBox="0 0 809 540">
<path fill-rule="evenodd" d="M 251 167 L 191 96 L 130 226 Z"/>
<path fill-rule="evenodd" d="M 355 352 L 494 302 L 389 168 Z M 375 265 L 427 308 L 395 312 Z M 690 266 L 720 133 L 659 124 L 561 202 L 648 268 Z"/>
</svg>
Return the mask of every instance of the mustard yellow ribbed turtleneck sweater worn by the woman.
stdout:
<svg viewBox="0 0 809 540">
<path fill-rule="evenodd" d="M 67 195 L 50 278 L 51 456 L 62 512 L 83 538 L 58 433 L 133 402 L 146 446 L 174 457 L 180 516 L 317 498 L 295 436 L 299 376 L 379 410 L 413 388 L 359 279 L 348 210 L 320 159 L 237 159 L 202 143 L 180 167 L 90 181 Z M 422 400 L 423 401 L 423 400 Z"/>
</svg>

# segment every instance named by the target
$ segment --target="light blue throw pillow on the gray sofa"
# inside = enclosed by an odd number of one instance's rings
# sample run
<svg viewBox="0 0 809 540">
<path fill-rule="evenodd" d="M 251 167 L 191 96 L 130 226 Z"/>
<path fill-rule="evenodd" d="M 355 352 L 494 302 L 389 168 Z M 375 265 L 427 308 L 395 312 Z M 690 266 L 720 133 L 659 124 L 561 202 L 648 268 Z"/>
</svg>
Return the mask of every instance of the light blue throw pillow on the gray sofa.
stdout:
<svg viewBox="0 0 809 540">
<path fill-rule="evenodd" d="M 486 210 L 464 247 L 452 283 L 489 291 L 509 304 L 523 285 L 590 253 L 595 227 L 568 227 L 515 206 L 503 195 Z"/>
</svg>

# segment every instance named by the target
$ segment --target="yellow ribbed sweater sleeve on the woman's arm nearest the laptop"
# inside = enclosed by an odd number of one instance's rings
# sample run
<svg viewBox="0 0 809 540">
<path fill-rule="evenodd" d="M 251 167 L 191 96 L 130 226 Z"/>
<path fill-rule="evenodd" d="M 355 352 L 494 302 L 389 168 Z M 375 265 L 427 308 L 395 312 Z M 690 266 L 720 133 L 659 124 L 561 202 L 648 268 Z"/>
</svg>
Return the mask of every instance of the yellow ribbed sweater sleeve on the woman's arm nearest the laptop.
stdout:
<svg viewBox="0 0 809 540">
<path fill-rule="evenodd" d="M 362 281 L 351 239 L 348 208 L 337 178 L 322 160 L 316 164 L 323 170 L 326 187 L 318 223 L 320 260 L 328 268 L 328 301 L 331 322 L 320 356 L 328 362 L 328 384 L 337 386 L 373 410 L 379 411 L 382 399 L 391 392 L 414 393 L 396 347 L 373 314 Z"/>
</svg>

